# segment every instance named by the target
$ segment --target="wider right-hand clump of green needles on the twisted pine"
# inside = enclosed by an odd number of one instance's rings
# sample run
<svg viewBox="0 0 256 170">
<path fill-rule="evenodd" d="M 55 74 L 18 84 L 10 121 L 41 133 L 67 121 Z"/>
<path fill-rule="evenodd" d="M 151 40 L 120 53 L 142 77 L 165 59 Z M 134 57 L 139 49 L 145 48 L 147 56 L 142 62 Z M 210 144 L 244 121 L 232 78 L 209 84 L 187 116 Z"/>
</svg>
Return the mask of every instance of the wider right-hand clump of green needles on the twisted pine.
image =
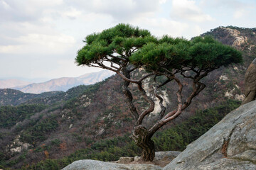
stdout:
<svg viewBox="0 0 256 170">
<path fill-rule="evenodd" d="M 154 69 L 182 70 L 183 67 L 215 69 L 230 63 L 242 62 L 238 50 L 223 45 L 210 36 L 196 37 L 191 41 L 164 36 L 149 42 L 129 58 L 133 64 Z"/>
</svg>

